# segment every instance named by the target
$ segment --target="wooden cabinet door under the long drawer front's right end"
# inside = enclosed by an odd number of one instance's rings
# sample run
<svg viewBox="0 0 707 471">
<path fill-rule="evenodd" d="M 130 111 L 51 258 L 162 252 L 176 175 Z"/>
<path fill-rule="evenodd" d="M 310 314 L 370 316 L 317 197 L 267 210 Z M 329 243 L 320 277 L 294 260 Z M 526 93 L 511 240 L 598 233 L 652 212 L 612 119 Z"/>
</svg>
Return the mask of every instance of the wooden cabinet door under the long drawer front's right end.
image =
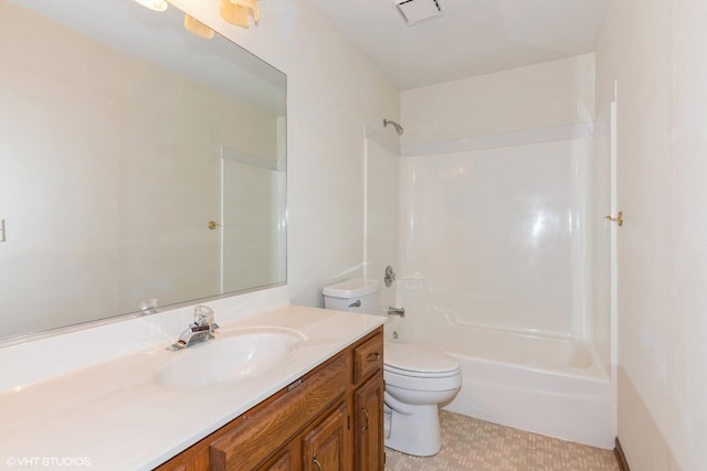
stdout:
<svg viewBox="0 0 707 471">
<path fill-rule="evenodd" d="M 303 470 L 346 470 L 346 404 L 341 404 L 303 439 Z"/>
</svg>

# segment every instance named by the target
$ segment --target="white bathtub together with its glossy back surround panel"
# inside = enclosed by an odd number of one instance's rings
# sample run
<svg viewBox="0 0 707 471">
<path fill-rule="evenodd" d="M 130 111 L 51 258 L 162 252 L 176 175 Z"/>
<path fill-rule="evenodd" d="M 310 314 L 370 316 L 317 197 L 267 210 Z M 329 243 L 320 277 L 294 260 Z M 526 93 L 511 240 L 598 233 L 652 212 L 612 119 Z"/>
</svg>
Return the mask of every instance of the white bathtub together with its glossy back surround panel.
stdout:
<svg viewBox="0 0 707 471">
<path fill-rule="evenodd" d="M 460 360 L 449 410 L 612 448 L 614 385 L 590 299 L 592 144 L 568 135 L 403 157 L 407 317 L 387 330 Z"/>
</svg>

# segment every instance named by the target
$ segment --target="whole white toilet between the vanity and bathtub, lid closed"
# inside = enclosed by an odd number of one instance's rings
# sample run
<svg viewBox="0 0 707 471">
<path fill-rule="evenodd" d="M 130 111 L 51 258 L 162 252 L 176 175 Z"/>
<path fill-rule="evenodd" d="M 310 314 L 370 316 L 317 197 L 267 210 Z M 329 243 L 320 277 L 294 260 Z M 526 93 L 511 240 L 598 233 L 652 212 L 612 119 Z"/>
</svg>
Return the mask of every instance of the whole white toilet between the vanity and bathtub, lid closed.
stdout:
<svg viewBox="0 0 707 471">
<path fill-rule="evenodd" d="M 379 283 L 355 279 L 324 288 L 324 304 L 339 311 L 380 314 Z M 462 386 L 460 363 L 420 345 L 386 342 L 386 447 L 429 457 L 442 449 L 439 405 Z"/>
</svg>

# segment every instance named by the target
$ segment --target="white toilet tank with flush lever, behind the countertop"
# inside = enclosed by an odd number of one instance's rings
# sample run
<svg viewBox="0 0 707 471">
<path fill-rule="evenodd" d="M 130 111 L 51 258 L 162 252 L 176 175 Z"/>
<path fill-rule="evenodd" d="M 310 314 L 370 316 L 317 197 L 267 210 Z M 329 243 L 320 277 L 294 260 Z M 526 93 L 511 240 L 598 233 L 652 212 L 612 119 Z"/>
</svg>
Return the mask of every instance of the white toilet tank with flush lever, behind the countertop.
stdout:
<svg viewBox="0 0 707 471">
<path fill-rule="evenodd" d="M 324 307 L 337 311 L 380 314 L 378 280 L 354 279 L 324 287 Z"/>
</svg>

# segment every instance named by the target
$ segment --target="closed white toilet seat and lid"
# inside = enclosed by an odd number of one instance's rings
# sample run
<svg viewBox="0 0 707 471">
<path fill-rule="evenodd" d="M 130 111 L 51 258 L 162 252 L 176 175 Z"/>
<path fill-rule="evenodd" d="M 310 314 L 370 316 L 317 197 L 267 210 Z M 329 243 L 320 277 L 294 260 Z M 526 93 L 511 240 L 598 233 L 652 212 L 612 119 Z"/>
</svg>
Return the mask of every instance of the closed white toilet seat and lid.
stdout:
<svg viewBox="0 0 707 471">
<path fill-rule="evenodd" d="M 419 378 L 449 377 L 461 371 L 460 362 L 446 353 L 421 345 L 386 342 L 383 371 Z"/>
</svg>

